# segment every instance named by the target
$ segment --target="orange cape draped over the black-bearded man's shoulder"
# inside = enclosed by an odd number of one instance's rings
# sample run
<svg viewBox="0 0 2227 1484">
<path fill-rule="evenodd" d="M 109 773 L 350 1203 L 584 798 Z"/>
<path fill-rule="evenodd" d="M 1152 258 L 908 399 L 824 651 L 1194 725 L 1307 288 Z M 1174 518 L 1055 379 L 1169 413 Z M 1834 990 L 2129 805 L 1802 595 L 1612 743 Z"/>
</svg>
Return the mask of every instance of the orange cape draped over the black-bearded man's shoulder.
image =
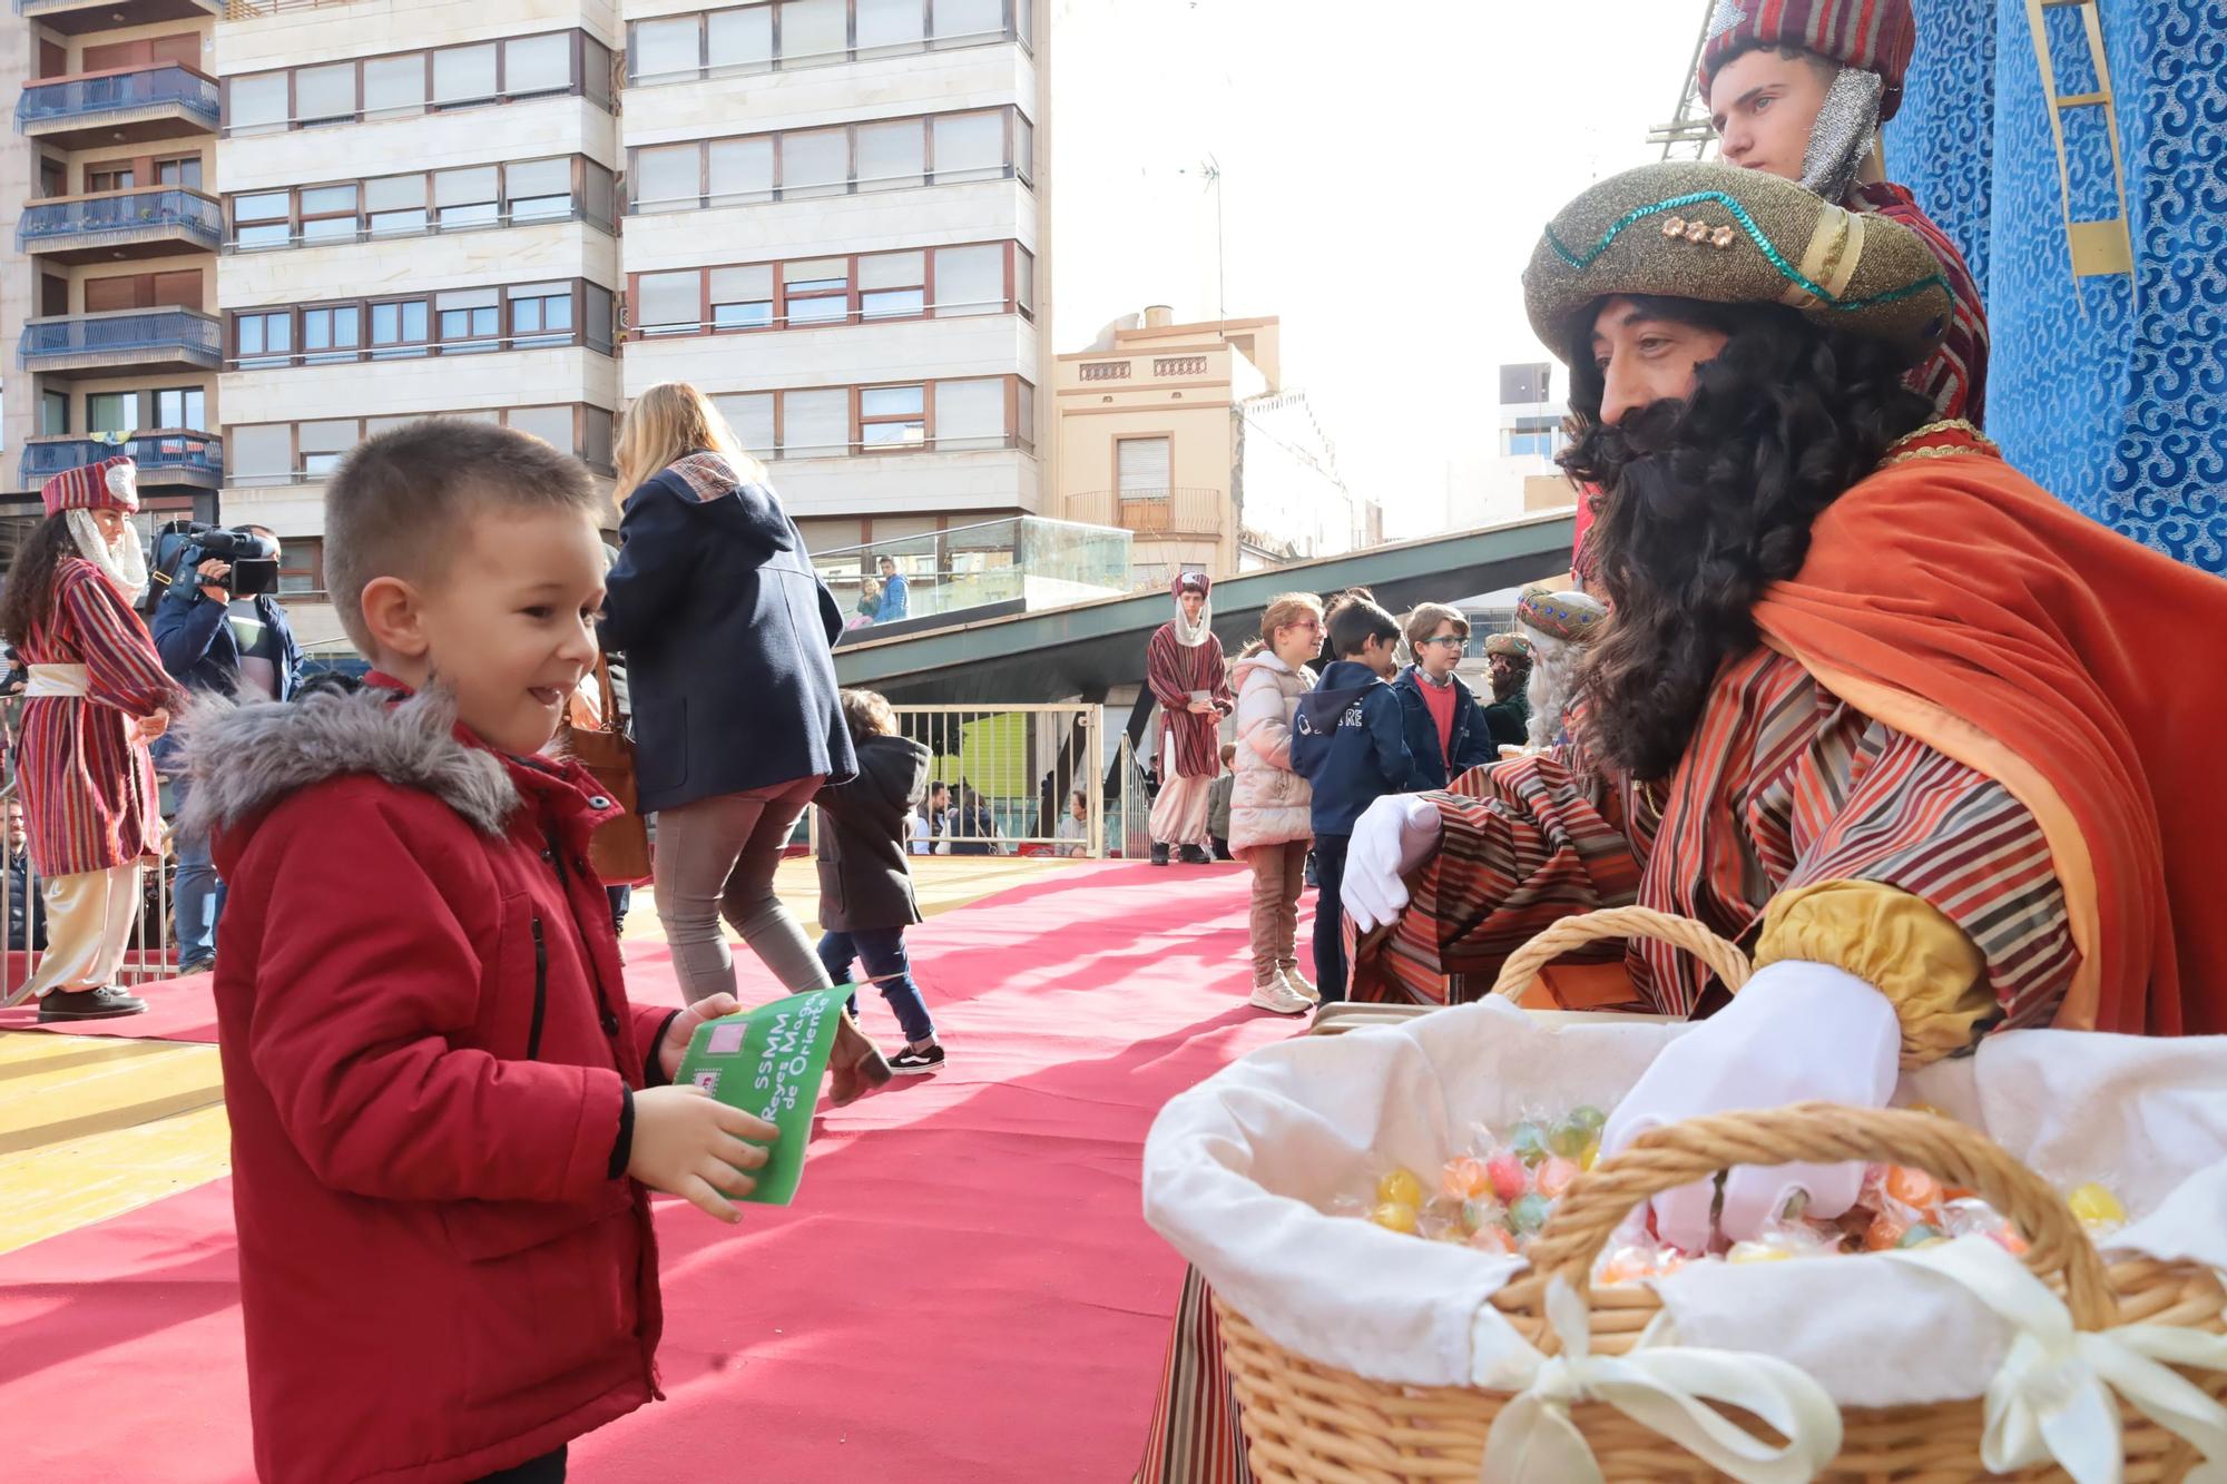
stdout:
<svg viewBox="0 0 2227 1484">
<path fill-rule="evenodd" d="M 2080 949 L 2058 1025 L 2227 1032 L 2227 582 L 1935 428 L 1817 517 L 1755 622 L 2033 813 Z"/>
</svg>

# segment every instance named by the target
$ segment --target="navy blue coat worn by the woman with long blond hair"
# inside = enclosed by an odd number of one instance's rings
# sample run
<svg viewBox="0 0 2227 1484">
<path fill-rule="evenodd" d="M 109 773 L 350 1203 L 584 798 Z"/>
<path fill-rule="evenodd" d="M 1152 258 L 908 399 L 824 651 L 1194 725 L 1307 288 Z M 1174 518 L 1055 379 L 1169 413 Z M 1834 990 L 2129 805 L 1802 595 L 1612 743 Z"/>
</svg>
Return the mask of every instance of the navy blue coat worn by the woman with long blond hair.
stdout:
<svg viewBox="0 0 2227 1484">
<path fill-rule="evenodd" d="M 604 648 L 626 651 L 639 809 L 857 775 L 835 689 L 842 611 L 762 484 L 688 455 L 626 497 Z"/>
</svg>

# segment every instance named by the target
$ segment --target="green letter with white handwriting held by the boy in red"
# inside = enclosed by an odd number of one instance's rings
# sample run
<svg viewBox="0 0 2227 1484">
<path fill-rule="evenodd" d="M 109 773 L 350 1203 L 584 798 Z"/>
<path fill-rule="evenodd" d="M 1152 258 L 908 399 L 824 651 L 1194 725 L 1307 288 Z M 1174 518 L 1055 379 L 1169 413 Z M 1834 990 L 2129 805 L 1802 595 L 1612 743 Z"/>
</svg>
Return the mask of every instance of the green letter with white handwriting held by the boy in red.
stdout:
<svg viewBox="0 0 2227 1484">
<path fill-rule="evenodd" d="M 835 1049 L 835 1023 L 853 994 L 853 985 L 806 989 L 739 1016 L 706 1021 L 688 1038 L 688 1056 L 673 1078 L 677 1087 L 695 1083 L 728 1107 L 782 1130 L 755 1174 L 757 1190 L 739 1201 L 788 1205 L 797 1197 L 820 1078 Z"/>
</svg>

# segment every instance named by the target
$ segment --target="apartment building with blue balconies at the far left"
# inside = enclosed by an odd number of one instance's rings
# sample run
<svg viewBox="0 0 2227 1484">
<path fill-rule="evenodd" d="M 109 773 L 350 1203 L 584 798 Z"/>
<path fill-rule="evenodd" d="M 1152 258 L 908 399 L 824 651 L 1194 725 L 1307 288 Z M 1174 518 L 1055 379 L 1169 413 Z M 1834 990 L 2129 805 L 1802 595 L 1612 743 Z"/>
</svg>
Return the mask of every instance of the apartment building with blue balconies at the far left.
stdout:
<svg viewBox="0 0 2227 1484">
<path fill-rule="evenodd" d="M 0 557 L 38 486 L 111 452 L 147 524 L 214 515 L 223 470 L 216 0 L 18 0 L 0 47 Z"/>
</svg>

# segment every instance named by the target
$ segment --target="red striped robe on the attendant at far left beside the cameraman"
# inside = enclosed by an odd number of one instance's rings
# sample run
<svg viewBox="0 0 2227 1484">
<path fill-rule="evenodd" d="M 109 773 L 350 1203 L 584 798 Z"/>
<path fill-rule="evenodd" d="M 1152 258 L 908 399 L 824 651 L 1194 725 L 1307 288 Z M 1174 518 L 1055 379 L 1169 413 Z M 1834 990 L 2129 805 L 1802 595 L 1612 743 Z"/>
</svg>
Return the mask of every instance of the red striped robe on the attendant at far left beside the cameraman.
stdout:
<svg viewBox="0 0 2227 1484">
<path fill-rule="evenodd" d="M 16 775 L 40 876 L 131 865 L 163 849 L 154 762 L 131 742 L 131 717 L 178 700 L 140 622 L 98 566 L 67 557 L 53 608 L 22 644 L 24 664 L 82 664 L 89 693 L 22 704 Z"/>
</svg>

